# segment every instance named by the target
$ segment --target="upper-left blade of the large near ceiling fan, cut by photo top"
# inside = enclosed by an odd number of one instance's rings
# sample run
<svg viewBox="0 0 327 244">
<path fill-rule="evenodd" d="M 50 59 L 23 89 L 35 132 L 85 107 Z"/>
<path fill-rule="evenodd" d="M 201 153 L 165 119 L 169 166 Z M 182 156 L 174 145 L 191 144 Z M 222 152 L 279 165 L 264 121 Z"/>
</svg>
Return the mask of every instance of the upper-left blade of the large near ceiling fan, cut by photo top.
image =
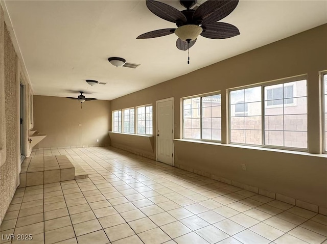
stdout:
<svg viewBox="0 0 327 244">
<path fill-rule="evenodd" d="M 176 23 L 177 21 L 181 21 L 183 23 L 186 22 L 186 17 L 183 13 L 167 4 L 147 0 L 147 7 L 152 13 L 162 19 L 173 23 Z"/>
</svg>

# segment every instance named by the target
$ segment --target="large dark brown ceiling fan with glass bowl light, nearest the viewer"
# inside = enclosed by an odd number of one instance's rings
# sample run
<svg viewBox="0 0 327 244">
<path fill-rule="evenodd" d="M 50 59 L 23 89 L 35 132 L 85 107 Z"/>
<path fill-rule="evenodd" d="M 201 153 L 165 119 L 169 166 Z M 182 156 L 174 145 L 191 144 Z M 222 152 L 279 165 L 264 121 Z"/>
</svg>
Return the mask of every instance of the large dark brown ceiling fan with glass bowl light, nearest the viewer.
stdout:
<svg viewBox="0 0 327 244">
<path fill-rule="evenodd" d="M 239 0 L 208 0 L 196 10 L 191 9 L 197 1 L 179 1 L 186 10 L 179 11 L 167 4 L 146 0 L 148 9 L 158 17 L 176 23 L 177 28 L 151 31 L 136 39 L 147 39 L 167 36 L 175 33 L 178 36 L 176 46 L 188 50 L 194 45 L 198 35 L 211 39 L 225 39 L 240 35 L 239 29 L 228 23 L 217 22 L 229 15 Z"/>
</svg>

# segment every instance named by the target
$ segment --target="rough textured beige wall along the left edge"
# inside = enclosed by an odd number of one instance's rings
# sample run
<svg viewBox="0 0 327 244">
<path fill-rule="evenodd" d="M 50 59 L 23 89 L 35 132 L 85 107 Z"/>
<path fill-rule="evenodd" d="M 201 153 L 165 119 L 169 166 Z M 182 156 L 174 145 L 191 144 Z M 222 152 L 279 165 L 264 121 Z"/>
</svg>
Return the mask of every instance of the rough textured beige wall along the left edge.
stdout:
<svg viewBox="0 0 327 244">
<path fill-rule="evenodd" d="M 32 88 L 16 55 L 10 33 L 0 10 L 0 223 L 19 185 L 20 123 L 19 84 L 25 87 L 25 155 L 29 156 L 28 130 L 31 128 L 30 94 Z"/>
</svg>

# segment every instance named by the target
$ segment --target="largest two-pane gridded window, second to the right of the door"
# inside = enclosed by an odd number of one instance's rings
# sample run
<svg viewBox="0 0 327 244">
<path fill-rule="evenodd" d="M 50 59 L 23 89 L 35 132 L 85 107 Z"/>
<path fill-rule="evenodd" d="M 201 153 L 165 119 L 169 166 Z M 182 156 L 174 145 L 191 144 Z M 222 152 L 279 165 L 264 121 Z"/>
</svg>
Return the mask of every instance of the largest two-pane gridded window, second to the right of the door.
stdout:
<svg viewBox="0 0 327 244">
<path fill-rule="evenodd" d="M 232 90 L 230 143 L 306 149 L 307 80 Z"/>
</svg>

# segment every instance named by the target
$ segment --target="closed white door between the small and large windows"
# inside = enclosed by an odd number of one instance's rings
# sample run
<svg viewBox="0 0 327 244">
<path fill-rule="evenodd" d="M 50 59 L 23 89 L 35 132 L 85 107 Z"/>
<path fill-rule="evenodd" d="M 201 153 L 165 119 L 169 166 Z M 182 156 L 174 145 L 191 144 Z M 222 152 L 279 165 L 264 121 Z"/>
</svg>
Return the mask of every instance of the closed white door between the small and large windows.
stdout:
<svg viewBox="0 0 327 244">
<path fill-rule="evenodd" d="M 173 98 L 156 102 L 157 111 L 157 160 L 173 165 Z"/>
</svg>

